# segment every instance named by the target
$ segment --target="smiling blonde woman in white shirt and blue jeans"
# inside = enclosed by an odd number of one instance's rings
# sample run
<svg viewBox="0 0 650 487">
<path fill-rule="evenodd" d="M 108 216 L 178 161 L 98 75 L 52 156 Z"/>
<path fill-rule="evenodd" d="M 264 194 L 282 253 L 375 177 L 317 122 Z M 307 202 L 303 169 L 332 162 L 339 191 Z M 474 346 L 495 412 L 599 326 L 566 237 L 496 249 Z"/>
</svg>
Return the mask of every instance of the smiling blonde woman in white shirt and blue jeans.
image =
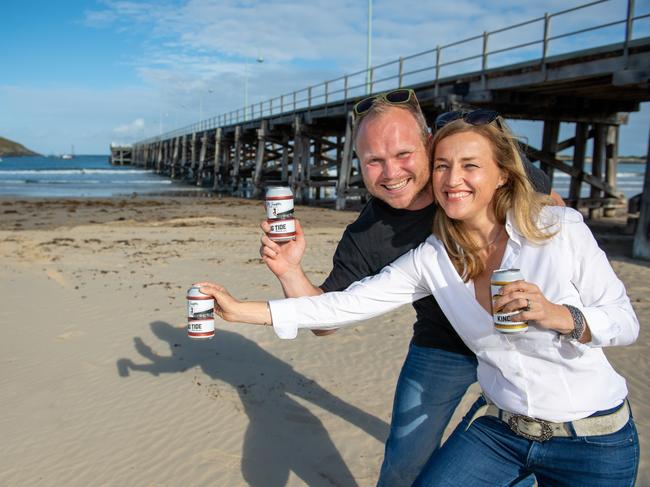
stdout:
<svg viewBox="0 0 650 487">
<path fill-rule="evenodd" d="M 571 209 L 546 206 L 495 112 L 450 112 L 432 141 L 433 235 L 341 293 L 238 302 L 203 283 L 228 321 L 272 324 L 282 338 L 385 313 L 433 293 L 478 358 L 483 389 L 415 485 L 632 485 L 639 449 L 625 380 L 602 347 L 633 342 L 639 324 L 605 254 Z M 491 296 L 490 276 L 525 280 Z M 494 298 L 494 302 L 493 302 Z M 492 307 L 519 311 L 501 334 Z"/>
</svg>

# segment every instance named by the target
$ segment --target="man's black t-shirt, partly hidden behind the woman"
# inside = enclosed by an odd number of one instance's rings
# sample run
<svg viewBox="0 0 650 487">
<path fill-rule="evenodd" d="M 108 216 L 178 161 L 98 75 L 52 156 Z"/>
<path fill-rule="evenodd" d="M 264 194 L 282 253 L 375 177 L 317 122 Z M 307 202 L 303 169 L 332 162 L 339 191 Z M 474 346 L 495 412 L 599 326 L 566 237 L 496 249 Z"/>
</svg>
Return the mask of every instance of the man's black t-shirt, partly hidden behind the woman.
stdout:
<svg viewBox="0 0 650 487">
<path fill-rule="evenodd" d="M 527 164 L 526 171 L 537 191 L 550 193 L 546 175 Z M 359 217 L 345 229 L 336 252 L 334 267 L 320 286 L 325 292 L 341 291 L 364 277 L 377 274 L 402 254 L 416 248 L 431 235 L 435 205 L 421 210 L 396 210 L 371 198 Z M 417 319 L 414 345 L 472 355 L 433 296 L 413 303 Z"/>
</svg>

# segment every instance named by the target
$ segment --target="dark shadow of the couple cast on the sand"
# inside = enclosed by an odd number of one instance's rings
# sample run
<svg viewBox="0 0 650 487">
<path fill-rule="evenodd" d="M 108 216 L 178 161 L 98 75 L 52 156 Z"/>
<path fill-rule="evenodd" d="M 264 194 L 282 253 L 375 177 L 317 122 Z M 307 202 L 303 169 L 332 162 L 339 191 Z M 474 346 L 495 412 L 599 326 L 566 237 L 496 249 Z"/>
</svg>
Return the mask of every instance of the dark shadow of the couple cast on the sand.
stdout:
<svg viewBox="0 0 650 487">
<path fill-rule="evenodd" d="M 130 371 L 170 374 L 198 366 L 212 380 L 229 384 L 249 419 L 241 469 L 253 487 L 284 486 L 291 471 L 309 486 L 357 485 L 321 421 L 291 396 L 339 416 L 381 442 L 388 434 L 384 421 L 330 394 L 237 333 L 217 330 L 214 340 L 196 342 L 187 339 L 185 329 L 169 323 L 156 321 L 151 329 L 167 342 L 170 355 L 154 354 L 136 337 L 135 348 L 148 363 L 120 359 L 120 376 L 127 377 Z"/>
</svg>

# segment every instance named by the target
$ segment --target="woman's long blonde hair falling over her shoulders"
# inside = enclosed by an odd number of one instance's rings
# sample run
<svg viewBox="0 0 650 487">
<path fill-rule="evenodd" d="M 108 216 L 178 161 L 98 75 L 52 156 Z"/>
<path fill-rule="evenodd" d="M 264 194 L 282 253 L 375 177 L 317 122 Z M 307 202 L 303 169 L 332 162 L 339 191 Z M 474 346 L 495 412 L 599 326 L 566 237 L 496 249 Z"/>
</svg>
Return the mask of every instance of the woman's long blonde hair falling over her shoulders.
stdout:
<svg viewBox="0 0 650 487">
<path fill-rule="evenodd" d="M 461 132 L 473 132 L 485 137 L 492 147 L 494 161 L 506 177 L 506 182 L 496 190 L 491 201 L 497 221 L 505 224 L 506 213 L 512 210 L 517 229 L 526 239 L 541 243 L 552 237 L 554 233 L 549 232 L 548 227 L 539 225 L 542 207 L 552 204 L 552 200 L 533 189 L 524 169 L 519 143 L 501 117 L 484 125 L 472 125 L 459 119 L 443 126 L 431 142 L 432 163 L 440 141 Z M 484 248 L 472 239 L 462 221 L 452 220 L 438 209 L 433 219 L 433 234 L 444 244 L 464 281 L 474 279 L 485 270 L 485 263 L 480 256 Z"/>
</svg>

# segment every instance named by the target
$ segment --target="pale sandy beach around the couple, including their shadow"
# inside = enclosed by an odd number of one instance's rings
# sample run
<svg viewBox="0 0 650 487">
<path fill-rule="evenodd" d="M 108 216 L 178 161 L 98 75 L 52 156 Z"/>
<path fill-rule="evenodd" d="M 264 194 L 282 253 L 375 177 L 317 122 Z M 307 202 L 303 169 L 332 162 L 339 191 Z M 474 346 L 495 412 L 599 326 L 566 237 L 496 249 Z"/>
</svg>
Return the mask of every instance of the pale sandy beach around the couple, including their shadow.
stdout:
<svg viewBox="0 0 650 487">
<path fill-rule="evenodd" d="M 296 214 L 320 283 L 356 213 Z M 213 340 L 186 336 L 192 282 L 281 296 L 259 258 L 263 217 L 234 198 L 0 200 L 0 485 L 375 485 L 410 307 L 330 337 L 223 322 Z M 641 322 L 606 353 L 650 486 L 650 263 L 617 225 L 596 230 Z"/>
</svg>

